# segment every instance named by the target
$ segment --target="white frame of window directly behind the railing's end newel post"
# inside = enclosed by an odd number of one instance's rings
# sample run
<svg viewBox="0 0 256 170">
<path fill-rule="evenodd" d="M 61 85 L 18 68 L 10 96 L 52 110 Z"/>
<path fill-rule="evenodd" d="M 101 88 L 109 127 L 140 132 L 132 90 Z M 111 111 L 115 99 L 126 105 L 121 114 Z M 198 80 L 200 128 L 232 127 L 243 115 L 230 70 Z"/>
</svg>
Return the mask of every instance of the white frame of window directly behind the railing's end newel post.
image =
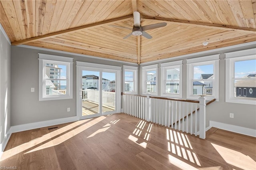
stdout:
<svg viewBox="0 0 256 170">
<path fill-rule="evenodd" d="M 193 77 L 194 77 L 194 66 L 200 65 L 213 65 L 212 80 L 213 93 L 212 96 L 205 96 L 206 100 L 216 99 L 219 100 L 219 60 L 220 54 L 208 55 L 204 57 L 197 57 L 187 59 L 187 99 L 199 99 L 199 95 L 193 95 Z"/>
</svg>

